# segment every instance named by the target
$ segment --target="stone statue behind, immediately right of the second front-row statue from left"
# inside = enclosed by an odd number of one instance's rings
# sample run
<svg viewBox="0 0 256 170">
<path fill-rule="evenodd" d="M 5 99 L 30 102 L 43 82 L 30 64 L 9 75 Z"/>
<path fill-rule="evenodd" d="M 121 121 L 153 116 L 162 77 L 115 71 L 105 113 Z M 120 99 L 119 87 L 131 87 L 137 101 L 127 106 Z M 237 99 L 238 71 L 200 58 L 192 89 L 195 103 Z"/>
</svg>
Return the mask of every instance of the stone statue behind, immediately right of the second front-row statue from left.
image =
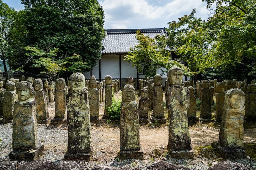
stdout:
<svg viewBox="0 0 256 170">
<path fill-rule="evenodd" d="M 91 122 L 98 122 L 99 120 L 99 91 L 97 89 L 97 80 L 92 75 L 89 83 L 89 103 L 90 103 L 90 120 Z"/>
</svg>

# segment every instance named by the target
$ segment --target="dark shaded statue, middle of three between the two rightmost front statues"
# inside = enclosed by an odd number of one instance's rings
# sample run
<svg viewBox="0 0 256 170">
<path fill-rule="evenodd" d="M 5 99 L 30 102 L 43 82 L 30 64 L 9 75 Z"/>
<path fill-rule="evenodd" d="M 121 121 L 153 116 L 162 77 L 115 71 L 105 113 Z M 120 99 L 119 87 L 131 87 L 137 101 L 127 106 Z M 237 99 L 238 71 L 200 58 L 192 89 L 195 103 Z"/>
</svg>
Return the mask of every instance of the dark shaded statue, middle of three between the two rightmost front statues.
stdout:
<svg viewBox="0 0 256 170">
<path fill-rule="evenodd" d="M 201 83 L 202 89 L 201 94 L 201 111 L 200 119 L 203 121 L 210 121 L 212 119 L 212 110 L 211 110 L 211 90 L 209 89 L 209 82 L 203 80 Z"/>
</svg>

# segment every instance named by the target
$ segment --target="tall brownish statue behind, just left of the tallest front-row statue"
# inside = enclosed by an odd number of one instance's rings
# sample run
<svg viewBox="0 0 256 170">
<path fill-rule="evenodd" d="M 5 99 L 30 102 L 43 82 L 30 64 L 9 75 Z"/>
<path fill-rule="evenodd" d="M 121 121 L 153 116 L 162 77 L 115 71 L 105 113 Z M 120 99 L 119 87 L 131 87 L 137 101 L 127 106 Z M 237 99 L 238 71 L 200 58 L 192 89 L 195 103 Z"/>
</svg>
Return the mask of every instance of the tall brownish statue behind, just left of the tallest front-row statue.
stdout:
<svg viewBox="0 0 256 170">
<path fill-rule="evenodd" d="M 166 123 L 166 118 L 164 118 L 164 99 L 163 99 L 163 87 L 162 87 L 162 77 L 157 74 L 154 76 L 154 87 L 153 87 L 153 115 L 152 123 Z"/>
</svg>

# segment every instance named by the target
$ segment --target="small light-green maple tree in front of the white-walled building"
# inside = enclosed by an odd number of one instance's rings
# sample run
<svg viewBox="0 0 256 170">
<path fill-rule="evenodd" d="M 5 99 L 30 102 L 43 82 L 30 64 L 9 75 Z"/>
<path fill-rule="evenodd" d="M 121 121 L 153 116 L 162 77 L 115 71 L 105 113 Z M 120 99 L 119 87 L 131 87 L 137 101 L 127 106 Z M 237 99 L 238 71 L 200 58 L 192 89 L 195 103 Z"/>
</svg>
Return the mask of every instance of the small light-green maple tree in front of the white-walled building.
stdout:
<svg viewBox="0 0 256 170">
<path fill-rule="evenodd" d="M 138 30 L 135 37 L 139 44 L 130 48 L 124 60 L 132 63 L 132 67 L 136 67 L 138 72 L 153 77 L 156 75 L 157 69 L 163 68 L 161 69 L 163 74 L 176 65 L 184 70 L 184 75 L 189 76 L 190 72 L 186 66 L 178 61 L 170 60 L 170 51 L 166 48 L 166 37 L 164 35 L 156 35 L 154 39 L 145 36 Z"/>
</svg>

